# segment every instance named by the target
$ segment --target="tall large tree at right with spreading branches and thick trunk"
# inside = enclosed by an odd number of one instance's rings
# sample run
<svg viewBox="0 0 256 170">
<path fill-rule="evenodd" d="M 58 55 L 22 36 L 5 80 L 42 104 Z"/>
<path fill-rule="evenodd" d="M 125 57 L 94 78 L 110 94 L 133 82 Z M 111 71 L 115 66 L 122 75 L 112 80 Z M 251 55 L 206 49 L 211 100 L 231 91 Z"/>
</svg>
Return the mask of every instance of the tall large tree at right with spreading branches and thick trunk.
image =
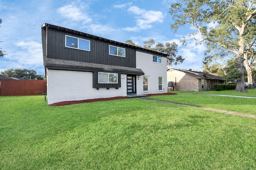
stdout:
<svg viewBox="0 0 256 170">
<path fill-rule="evenodd" d="M 171 29 L 177 31 L 186 24 L 196 28 L 190 34 L 193 39 L 200 33 L 200 43 L 218 50 L 226 49 L 236 54 L 236 69 L 239 72 L 236 91 L 244 88 L 244 52 L 246 43 L 254 41 L 255 1 L 254 0 L 181 0 L 171 5 L 170 14 L 174 23 Z M 191 38 L 191 37 L 190 37 Z M 186 41 L 185 39 L 184 41 Z"/>
</svg>

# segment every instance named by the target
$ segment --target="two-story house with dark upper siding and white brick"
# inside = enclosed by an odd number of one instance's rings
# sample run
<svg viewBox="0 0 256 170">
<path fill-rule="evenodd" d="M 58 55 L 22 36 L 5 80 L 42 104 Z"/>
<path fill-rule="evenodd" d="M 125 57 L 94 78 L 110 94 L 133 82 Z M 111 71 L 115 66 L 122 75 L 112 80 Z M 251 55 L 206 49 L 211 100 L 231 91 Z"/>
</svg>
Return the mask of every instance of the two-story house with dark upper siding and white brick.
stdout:
<svg viewBox="0 0 256 170">
<path fill-rule="evenodd" d="M 48 105 L 167 92 L 167 55 L 44 23 Z"/>
</svg>

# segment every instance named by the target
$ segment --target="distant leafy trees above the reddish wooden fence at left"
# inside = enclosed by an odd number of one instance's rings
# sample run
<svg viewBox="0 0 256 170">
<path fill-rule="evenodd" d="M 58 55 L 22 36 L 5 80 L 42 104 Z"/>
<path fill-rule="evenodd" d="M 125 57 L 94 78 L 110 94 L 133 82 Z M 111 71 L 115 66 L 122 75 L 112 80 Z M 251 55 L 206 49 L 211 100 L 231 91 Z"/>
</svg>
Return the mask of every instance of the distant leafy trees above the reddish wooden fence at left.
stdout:
<svg viewBox="0 0 256 170">
<path fill-rule="evenodd" d="M 26 68 L 20 69 L 8 69 L 1 72 L 2 75 L 8 77 L 14 77 L 19 79 L 37 79 L 37 80 L 44 80 L 45 77 L 42 75 L 38 75 L 35 70 L 28 70 Z"/>
</svg>

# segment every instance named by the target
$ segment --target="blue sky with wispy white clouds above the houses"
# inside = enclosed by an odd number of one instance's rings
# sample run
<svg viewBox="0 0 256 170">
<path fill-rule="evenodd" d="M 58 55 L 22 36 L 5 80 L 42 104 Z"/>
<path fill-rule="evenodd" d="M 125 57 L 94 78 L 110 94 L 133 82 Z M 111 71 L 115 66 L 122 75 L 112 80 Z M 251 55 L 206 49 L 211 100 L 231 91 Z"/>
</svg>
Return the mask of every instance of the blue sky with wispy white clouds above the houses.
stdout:
<svg viewBox="0 0 256 170">
<path fill-rule="evenodd" d="M 176 33 L 169 14 L 175 0 L 0 0 L 0 47 L 8 54 L 0 58 L 0 71 L 34 69 L 44 75 L 41 25 L 50 23 L 114 41 L 130 39 L 138 45 L 176 42 L 184 63 L 171 68 L 202 70 L 204 45 L 193 41 L 182 46 L 181 36 L 194 31 L 181 27 Z"/>
</svg>

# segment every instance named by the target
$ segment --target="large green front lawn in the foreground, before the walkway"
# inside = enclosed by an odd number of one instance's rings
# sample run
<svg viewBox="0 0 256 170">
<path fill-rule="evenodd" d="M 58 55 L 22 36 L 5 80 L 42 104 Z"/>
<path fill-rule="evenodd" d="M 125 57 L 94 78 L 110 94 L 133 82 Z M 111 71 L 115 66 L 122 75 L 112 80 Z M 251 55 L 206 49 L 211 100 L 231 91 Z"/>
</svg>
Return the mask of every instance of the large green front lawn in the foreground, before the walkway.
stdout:
<svg viewBox="0 0 256 170">
<path fill-rule="evenodd" d="M 256 169 L 256 119 L 141 99 L 0 103 L 2 170 Z"/>
</svg>

